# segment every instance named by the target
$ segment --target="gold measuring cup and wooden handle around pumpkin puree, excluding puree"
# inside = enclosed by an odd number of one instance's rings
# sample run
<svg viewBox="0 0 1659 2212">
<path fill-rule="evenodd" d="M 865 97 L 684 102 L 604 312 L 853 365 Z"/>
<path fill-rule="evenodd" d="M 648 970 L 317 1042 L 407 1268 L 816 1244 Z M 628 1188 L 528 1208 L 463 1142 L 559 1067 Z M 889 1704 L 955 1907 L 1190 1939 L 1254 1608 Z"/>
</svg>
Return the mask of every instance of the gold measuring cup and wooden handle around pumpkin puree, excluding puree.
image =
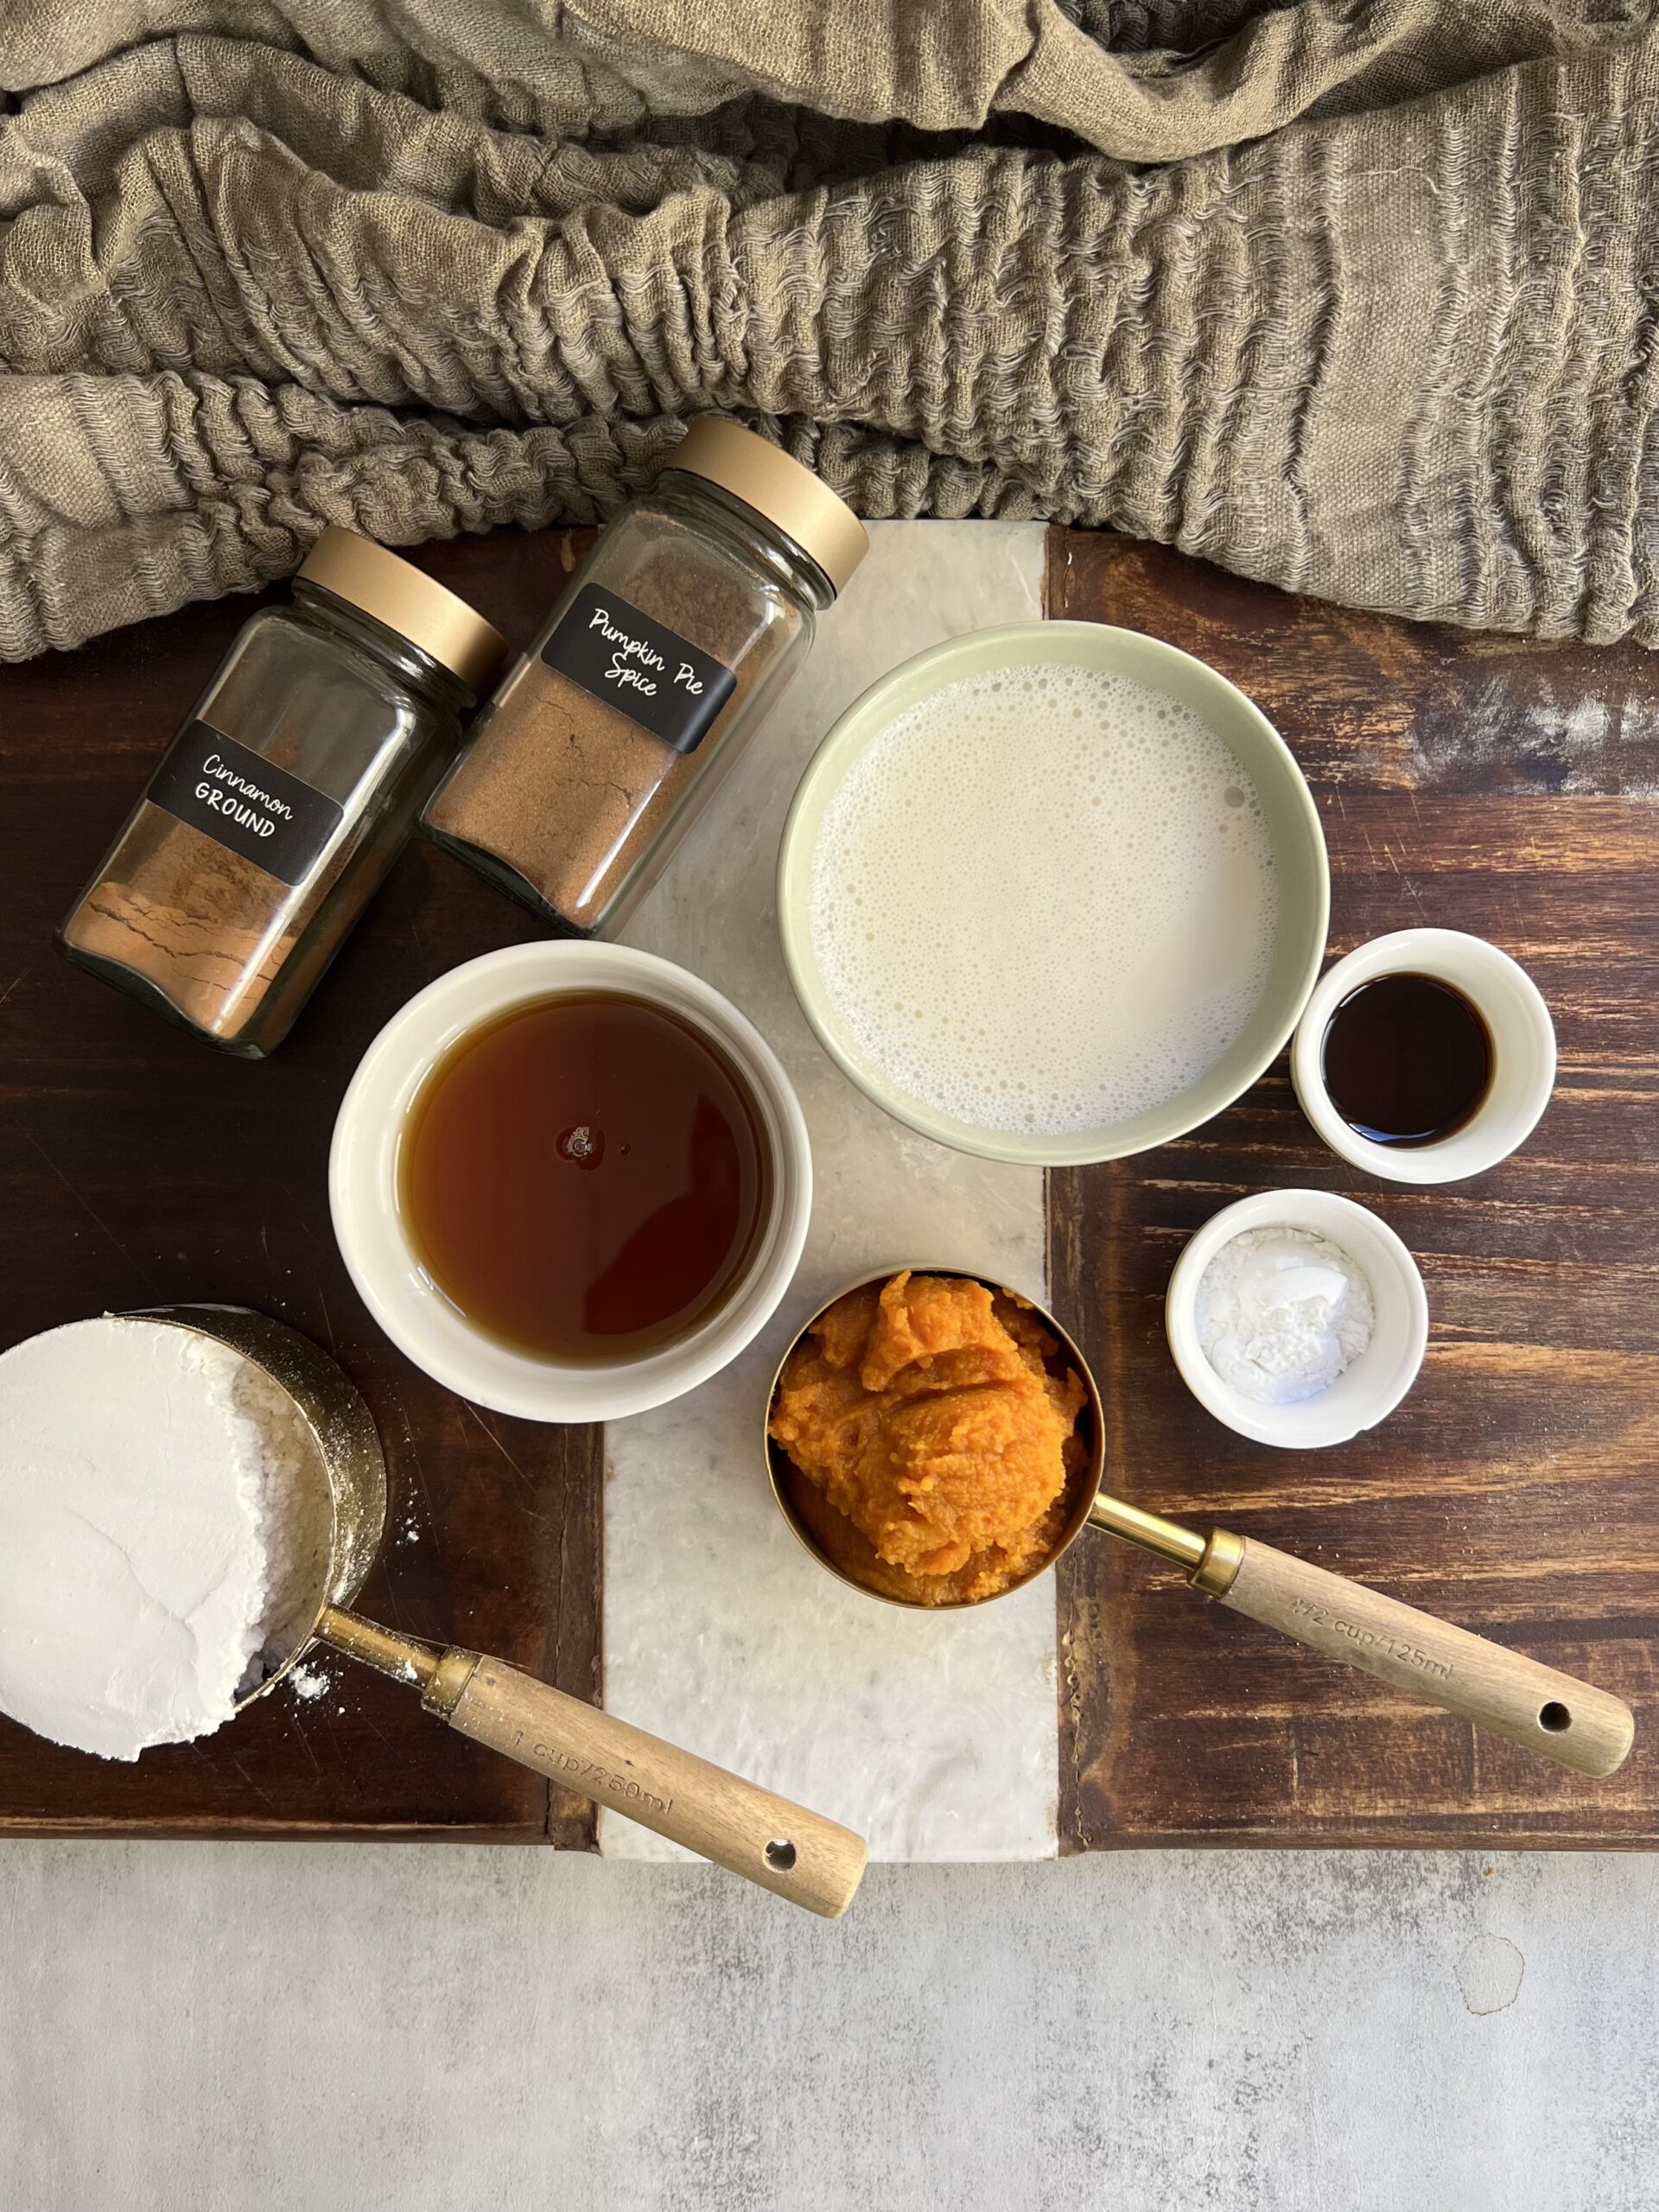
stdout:
<svg viewBox="0 0 1659 2212">
<path fill-rule="evenodd" d="M 858 1283 L 849 1283 L 836 1296 L 845 1298 L 852 1290 L 885 1283 L 898 1272 L 896 1267 L 880 1267 L 874 1274 L 860 1276 Z M 1157 1553 L 1159 1559 L 1170 1559 L 1183 1571 L 1192 1588 L 1203 1590 L 1206 1597 L 1214 1597 L 1223 1606 L 1232 1606 L 1234 1613 L 1245 1613 L 1252 1621 L 1261 1621 L 1281 1635 L 1294 1637 L 1298 1644 L 1307 1644 L 1327 1659 L 1340 1659 L 1345 1666 L 1376 1674 L 1425 1705 L 1442 1705 L 1447 1712 L 1458 1712 L 1480 1728 L 1491 1728 L 1495 1734 L 1509 1736 L 1511 1743 L 1524 1743 L 1526 1750 L 1540 1752 L 1557 1765 L 1575 1767 L 1579 1774 L 1613 1774 L 1624 1765 L 1635 1734 L 1635 1719 L 1630 1708 L 1608 1690 L 1595 1690 L 1571 1674 L 1540 1666 L 1537 1659 L 1526 1659 L 1502 1644 L 1489 1644 L 1467 1628 L 1438 1621 L 1431 1613 L 1402 1606 L 1396 1597 L 1385 1597 L 1360 1582 L 1347 1582 L 1343 1575 L 1329 1575 L 1323 1566 L 1292 1559 L 1287 1553 L 1274 1551 L 1270 1544 L 1259 1544 L 1254 1537 L 1232 1535 L 1228 1528 L 1212 1528 L 1210 1535 L 1199 1535 L 1194 1528 L 1183 1528 L 1179 1522 L 1168 1522 L 1157 1513 L 1146 1513 L 1141 1506 L 1128 1504 L 1124 1498 L 1113 1498 L 1102 1489 L 1106 1473 L 1106 1418 L 1099 1385 L 1088 1369 L 1088 1360 L 1053 1314 L 1020 1292 L 995 1283 L 991 1276 L 973 1274 L 969 1267 L 914 1267 L 911 1272 L 984 1283 L 993 1294 L 1002 1292 L 1018 1298 L 1053 1334 L 1066 1365 L 1075 1369 L 1084 1385 L 1086 1400 L 1079 1413 L 1079 1433 L 1088 1442 L 1088 1458 L 1071 1480 L 1068 1513 L 1053 1551 L 1022 1577 L 1022 1584 L 1046 1575 L 1084 1528 L 1106 1528 L 1110 1535 L 1121 1535 L 1130 1544 L 1139 1544 L 1141 1551 Z M 964 1599 L 956 1606 L 920 1606 L 916 1599 L 869 1588 L 856 1573 L 836 1566 L 825 1555 L 823 1542 L 814 1531 L 825 1526 L 825 1517 L 834 1517 L 838 1522 L 836 1535 L 845 1542 L 847 1557 L 856 1559 L 863 1551 L 869 1555 L 872 1566 L 878 1566 L 874 1548 L 805 1480 L 783 1447 L 772 1440 L 770 1427 L 772 1405 L 790 1354 L 834 1303 L 836 1298 L 827 1298 L 812 1321 L 796 1332 L 768 1394 L 765 1464 L 779 1511 L 818 1566 L 865 1597 L 925 1613 L 960 1610 L 960 1604 L 993 1604 L 993 1599 Z M 887 1577 L 891 1577 L 891 1571 L 887 1571 Z M 1022 1584 L 1015 1584 L 1015 1588 Z M 1009 1593 L 998 1590 L 995 1595 L 1006 1597 Z"/>
</svg>

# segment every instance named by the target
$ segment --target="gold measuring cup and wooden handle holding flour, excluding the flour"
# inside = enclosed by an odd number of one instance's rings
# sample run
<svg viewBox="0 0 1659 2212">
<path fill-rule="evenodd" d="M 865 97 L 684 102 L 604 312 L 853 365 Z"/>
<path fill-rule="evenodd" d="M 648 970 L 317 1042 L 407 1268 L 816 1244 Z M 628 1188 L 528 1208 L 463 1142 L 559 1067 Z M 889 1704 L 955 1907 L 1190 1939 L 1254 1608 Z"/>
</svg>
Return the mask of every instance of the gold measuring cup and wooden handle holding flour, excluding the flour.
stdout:
<svg viewBox="0 0 1659 2212">
<path fill-rule="evenodd" d="M 316 1562 L 305 1604 L 276 1632 L 272 1670 L 243 1692 L 237 1710 L 279 1683 L 314 1641 L 325 1644 L 418 1688 L 427 1712 L 473 1743 L 672 1836 L 792 1905 L 827 1920 L 845 1913 L 865 1871 L 863 1836 L 500 1659 L 418 1644 L 345 1610 L 380 1548 L 385 1458 L 367 1405 L 310 1338 L 268 1314 L 228 1305 L 161 1305 L 133 1318 L 164 1321 L 230 1345 L 288 1394 L 316 1440 L 312 1462 L 327 1482 L 327 1498 L 314 1504 L 319 1528 L 330 1531 L 327 1555 Z"/>
</svg>

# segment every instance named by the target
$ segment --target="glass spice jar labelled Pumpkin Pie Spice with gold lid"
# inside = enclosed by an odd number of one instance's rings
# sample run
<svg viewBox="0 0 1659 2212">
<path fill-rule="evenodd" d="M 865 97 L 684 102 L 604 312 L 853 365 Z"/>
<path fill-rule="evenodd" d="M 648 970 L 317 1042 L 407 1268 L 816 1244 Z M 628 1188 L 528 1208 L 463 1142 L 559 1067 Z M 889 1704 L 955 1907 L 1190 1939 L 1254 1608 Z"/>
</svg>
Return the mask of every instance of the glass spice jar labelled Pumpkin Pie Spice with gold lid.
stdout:
<svg viewBox="0 0 1659 2212">
<path fill-rule="evenodd" d="M 867 544 L 810 469 L 699 416 L 478 717 L 427 834 L 562 936 L 615 936 Z"/>
</svg>

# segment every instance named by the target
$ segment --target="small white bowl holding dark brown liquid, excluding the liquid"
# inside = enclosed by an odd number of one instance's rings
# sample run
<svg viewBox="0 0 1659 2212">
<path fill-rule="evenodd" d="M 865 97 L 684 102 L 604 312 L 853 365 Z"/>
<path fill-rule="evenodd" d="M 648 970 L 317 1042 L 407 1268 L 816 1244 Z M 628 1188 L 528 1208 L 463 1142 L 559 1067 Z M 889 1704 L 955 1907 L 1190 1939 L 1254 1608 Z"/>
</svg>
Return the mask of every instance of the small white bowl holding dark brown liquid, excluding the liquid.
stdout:
<svg viewBox="0 0 1659 2212">
<path fill-rule="evenodd" d="M 1493 1042 L 1493 1077 L 1471 1121 L 1440 1144 L 1371 1144 L 1349 1128 L 1325 1088 L 1325 1031 L 1349 991 L 1374 975 L 1433 975 L 1478 1006 Z M 1484 1175 L 1537 1128 L 1555 1088 L 1555 1024 L 1509 953 L 1462 929 L 1396 929 L 1321 975 L 1290 1046 L 1290 1082 L 1318 1135 L 1354 1168 L 1389 1183 L 1458 1183 Z"/>
</svg>

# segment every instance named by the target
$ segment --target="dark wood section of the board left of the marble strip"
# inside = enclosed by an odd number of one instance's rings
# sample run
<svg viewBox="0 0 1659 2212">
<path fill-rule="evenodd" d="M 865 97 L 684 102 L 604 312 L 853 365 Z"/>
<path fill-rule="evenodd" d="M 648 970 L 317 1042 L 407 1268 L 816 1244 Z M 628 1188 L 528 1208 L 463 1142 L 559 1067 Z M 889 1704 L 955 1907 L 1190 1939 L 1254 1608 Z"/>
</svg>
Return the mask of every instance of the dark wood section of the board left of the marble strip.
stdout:
<svg viewBox="0 0 1659 2212">
<path fill-rule="evenodd" d="M 560 535 L 431 546 L 511 639 L 560 588 Z M 460 960 L 529 936 L 422 838 L 294 1035 L 228 1060 L 71 971 L 51 933 L 250 611 L 188 608 L 0 670 L 0 1343 L 173 1298 L 254 1305 L 338 1354 L 380 1425 L 392 1522 L 361 1610 L 593 1697 L 599 1460 L 584 1431 L 478 1413 L 374 1327 L 334 1250 L 327 1141 L 385 1020 Z M 341 1659 L 217 1736 L 113 1765 L 0 1719 L 0 1832 L 458 1836 L 591 1843 L 584 1798 Z"/>
</svg>

